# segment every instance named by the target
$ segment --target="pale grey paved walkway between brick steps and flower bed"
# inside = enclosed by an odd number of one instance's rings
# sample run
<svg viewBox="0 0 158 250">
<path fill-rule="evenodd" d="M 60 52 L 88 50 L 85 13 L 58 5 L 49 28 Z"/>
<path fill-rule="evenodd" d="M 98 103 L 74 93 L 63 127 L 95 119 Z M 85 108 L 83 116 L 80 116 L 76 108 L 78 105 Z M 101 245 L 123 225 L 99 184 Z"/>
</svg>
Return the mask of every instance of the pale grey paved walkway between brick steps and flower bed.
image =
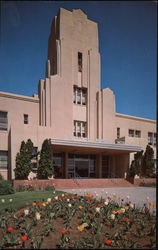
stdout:
<svg viewBox="0 0 158 250">
<path fill-rule="evenodd" d="M 124 201 L 127 200 L 127 196 L 130 196 L 129 200 L 135 204 L 135 207 L 142 207 L 144 203 L 147 202 L 147 197 L 149 197 L 149 201 L 156 202 L 156 188 L 152 187 L 117 187 L 117 188 L 80 188 L 80 189 L 57 189 L 60 191 L 68 192 L 68 193 L 77 193 L 78 195 L 83 195 L 86 193 L 91 193 L 98 197 L 106 197 L 106 192 L 108 192 L 107 196 L 113 196 L 115 193 L 117 196 L 120 196 Z M 96 193 L 95 193 L 96 192 Z"/>
</svg>

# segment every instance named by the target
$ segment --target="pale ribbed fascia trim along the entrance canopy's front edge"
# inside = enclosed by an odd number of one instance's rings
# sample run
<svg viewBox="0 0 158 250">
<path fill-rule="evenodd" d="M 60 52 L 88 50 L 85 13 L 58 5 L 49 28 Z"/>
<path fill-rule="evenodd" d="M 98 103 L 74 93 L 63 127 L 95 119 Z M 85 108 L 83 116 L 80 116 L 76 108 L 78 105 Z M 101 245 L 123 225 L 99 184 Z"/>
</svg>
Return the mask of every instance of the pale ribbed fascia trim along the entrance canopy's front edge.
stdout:
<svg viewBox="0 0 158 250">
<path fill-rule="evenodd" d="M 52 145 L 61 145 L 61 146 L 77 146 L 77 147 L 88 147 L 88 148 L 98 148 L 98 149 L 111 149 L 111 150 L 123 150 L 130 152 L 141 151 L 140 146 L 133 146 L 127 144 L 115 144 L 115 143 L 106 143 L 101 141 L 76 141 L 76 140 L 62 140 L 62 139 L 51 139 Z"/>
</svg>

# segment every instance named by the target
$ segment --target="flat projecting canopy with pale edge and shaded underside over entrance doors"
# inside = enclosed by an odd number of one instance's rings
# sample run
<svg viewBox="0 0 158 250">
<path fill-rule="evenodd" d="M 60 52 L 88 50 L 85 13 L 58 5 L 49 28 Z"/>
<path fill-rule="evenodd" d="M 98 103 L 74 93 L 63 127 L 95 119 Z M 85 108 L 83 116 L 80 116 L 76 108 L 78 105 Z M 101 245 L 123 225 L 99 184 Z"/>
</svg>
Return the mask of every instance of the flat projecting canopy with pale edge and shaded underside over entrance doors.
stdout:
<svg viewBox="0 0 158 250">
<path fill-rule="evenodd" d="M 90 141 L 90 140 L 62 140 L 62 139 L 51 139 L 52 146 L 56 148 L 65 149 L 76 149 L 84 151 L 95 152 L 111 152 L 111 153 L 134 153 L 142 150 L 140 146 L 134 146 L 129 144 L 115 144 L 106 143 L 104 141 Z"/>
</svg>

